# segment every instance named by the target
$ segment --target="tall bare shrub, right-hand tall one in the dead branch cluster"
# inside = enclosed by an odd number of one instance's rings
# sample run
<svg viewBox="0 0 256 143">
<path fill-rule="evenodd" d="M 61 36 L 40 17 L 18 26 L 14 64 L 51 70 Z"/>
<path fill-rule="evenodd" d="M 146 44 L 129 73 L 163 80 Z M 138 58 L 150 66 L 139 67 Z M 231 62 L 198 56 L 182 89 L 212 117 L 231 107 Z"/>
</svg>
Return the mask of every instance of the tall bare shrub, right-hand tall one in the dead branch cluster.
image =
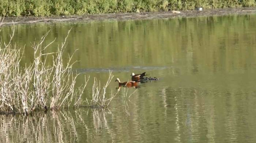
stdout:
<svg viewBox="0 0 256 143">
<path fill-rule="evenodd" d="M 69 34 L 70 30 L 68 31 Z M 67 36 L 68 37 L 68 36 Z M 58 47 L 57 56 L 53 58 L 53 80 L 52 80 L 52 98 L 50 103 L 51 109 L 60 109 L 69 107 L 74 96 L 77 94 L 75 90 L 75 83 L 78 74 L 73 73 L 71 59 L 73 55 L 69 56 L 69 60 L 66 66 L 63 63 L 63 52 L 65 49 L 65 43 L 61 43 L 61 47 Z"/>
</svg>

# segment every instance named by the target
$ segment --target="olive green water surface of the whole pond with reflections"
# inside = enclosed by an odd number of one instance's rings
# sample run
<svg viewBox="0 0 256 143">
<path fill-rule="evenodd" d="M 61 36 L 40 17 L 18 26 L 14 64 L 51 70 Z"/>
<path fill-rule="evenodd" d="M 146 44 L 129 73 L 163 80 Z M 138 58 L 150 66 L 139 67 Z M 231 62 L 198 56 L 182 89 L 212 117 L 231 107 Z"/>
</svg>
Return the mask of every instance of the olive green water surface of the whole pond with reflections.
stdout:
<svg viewBox="0 0 256 143">
<path fill-rule="evenodd" d="M 23 63 L 30 42 L 51 30 L 54 51 L 71 27 L 65 54 L 79 49 L 78 83 L 91 76 L 84 99 L 109 69 L 121 81 L 144 71 L 159 81 L 121 88 L 109 109 L 1 115 L 0 142 L 256 142 L 256 15 L 17 25 Z"/>
</svg>

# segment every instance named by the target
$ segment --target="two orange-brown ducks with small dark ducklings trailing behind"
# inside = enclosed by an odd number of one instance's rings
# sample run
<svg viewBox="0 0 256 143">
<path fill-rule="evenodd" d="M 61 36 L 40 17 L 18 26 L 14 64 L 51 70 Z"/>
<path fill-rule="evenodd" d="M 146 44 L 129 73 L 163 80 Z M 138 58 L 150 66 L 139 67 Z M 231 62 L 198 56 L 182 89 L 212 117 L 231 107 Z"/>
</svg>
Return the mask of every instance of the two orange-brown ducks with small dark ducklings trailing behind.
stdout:
<svg viewBox="0 0 256 143">
<path fill-rule="evenodd" d="M 131 76 L 132 76 L 132 81 L 126 81 L 126 82 L 120 82 L 119 78 L 116 78 L 116 81 L 118 82 L 118 85 L 119 86 L 127 86 L 127 87 L 134 87 L 134 86 L 138 86 L 138 83 L 141 81 L 141 80 L 158 80 L 158 78 L 154 77 L 154 78 L 151 78 L 151 77 L 145 77 L 149 74 L 146 74 L 146 72 L 142 73 L 142 74 L 134 74 L 132 73 Z"/>
</svg>

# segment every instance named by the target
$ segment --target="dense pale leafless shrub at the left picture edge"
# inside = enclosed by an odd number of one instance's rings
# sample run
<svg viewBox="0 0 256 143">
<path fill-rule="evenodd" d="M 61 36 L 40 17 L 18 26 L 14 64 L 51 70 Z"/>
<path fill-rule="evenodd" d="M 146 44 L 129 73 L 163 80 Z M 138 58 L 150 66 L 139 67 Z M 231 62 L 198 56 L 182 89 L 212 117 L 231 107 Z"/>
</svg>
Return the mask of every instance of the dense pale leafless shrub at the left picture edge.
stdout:
<svg viewBox="0 0 256 143">
<path fill-rule="evenodd" d="M 1 18 L 0 18 L 1 21 Z M 13 90 L 15 83 L 13 69 L 16 68 L 20 59 L 20 50 L 11 45 L 14 30 L 8 43 L 0 41 L 0 110 L 1 112 L 14 112 L 17 103 L 16 94 Z M 1 39 L 0 39 L 1 40 Z M 13 48 L 12 48 L 13 47 Z"/>
</svg>

